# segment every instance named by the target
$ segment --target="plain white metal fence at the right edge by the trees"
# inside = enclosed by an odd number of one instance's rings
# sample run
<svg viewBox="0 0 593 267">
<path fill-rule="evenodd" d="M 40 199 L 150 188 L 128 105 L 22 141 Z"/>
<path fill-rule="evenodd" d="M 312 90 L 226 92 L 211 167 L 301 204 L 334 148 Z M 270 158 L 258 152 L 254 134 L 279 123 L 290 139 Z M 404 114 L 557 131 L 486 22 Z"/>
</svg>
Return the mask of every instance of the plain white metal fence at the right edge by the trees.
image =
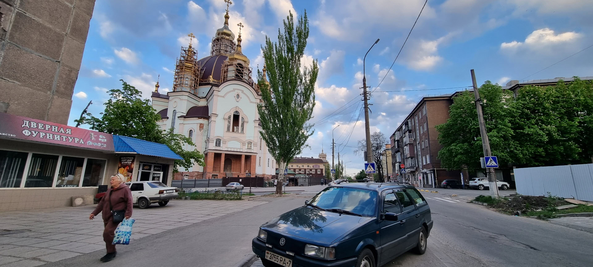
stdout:
<svg viewBox="0 0 593 267">
<path fill-rule="evenodd" d="M 593 164 L 518 168 L 515 185 L 521 195 L 593 201 Z"/>
</svg>

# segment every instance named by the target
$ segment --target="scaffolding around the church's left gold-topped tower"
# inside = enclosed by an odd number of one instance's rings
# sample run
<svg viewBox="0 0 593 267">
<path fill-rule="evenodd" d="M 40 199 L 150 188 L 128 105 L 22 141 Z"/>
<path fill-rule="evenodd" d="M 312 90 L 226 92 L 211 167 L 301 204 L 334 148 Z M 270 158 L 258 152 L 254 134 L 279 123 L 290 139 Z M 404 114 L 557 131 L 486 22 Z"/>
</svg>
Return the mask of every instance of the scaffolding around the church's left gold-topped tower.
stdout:
<svg viewBox="0 0 593 267">
<path fill-rule="evenodd" d="M 192 47 L 192 44 L 189 47 L 181 47 L 181 56 L 177 58 L 175 66 L 173 91 L 187 91 L 196 94 L 200 74 L 196 49 Z"/>
</svg>

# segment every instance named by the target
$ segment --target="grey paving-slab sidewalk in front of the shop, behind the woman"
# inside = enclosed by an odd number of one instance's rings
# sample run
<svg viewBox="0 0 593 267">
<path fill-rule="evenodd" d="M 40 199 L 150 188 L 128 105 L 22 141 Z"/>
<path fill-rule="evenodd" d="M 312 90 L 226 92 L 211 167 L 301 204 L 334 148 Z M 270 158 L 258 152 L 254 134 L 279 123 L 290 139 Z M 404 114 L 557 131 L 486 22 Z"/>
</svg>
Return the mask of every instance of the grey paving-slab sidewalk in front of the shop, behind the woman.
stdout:
<svg viewBox="0 0 593 267">
<path fill-rule="evenodd" d="M 267 202 L 176 200 L 165 207 L 135 207 L 132 240 L 264 203 Z M 101 215 L 88 220 L 95 206 L 0 213 L 0 267 L 39 266 L 105 249 Z"/>
</svg>

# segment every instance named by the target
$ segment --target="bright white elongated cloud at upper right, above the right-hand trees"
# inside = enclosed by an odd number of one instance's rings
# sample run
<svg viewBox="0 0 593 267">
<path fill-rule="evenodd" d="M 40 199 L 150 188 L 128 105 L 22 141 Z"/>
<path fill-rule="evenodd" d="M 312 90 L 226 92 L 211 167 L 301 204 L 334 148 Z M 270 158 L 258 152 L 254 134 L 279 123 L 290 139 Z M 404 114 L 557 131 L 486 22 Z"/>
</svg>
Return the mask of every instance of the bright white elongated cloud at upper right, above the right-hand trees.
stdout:
<svg viewBox="0 0 593 267">
<path fill-rule="evenodd" d="M 527 46 L 529 49 L 537 50 L 554 44 L 572 43 L 581 37 L 582 34 L 576 33 L 575 31 L 556 34 L 556 32 L 550 30 L 550 28 L 542 28 L 529 34 L 524 42 L 511 41 L 510 43 L 502 43 L 500 44 L 500 49 L 517 49 L 518 47 Z"/>
</svg>

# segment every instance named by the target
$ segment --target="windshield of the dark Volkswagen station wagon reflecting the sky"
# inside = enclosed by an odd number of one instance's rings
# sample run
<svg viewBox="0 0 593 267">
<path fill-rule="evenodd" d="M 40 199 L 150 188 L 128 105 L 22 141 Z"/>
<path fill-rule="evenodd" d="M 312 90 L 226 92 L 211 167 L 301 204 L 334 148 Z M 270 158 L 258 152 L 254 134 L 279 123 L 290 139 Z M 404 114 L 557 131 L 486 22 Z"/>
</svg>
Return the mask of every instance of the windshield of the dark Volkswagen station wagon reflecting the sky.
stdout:
<svg viewBox="0 0 593 267">
<path fill-rule="evenodd" d="M 352 211 L 353 213 L 372 217 L 377 207 L 377 191 L 347 188 L 328 187 L 315 195 L 309 204 L 317 205 L 324 209 L 335 208 Z"/>
</svg>

